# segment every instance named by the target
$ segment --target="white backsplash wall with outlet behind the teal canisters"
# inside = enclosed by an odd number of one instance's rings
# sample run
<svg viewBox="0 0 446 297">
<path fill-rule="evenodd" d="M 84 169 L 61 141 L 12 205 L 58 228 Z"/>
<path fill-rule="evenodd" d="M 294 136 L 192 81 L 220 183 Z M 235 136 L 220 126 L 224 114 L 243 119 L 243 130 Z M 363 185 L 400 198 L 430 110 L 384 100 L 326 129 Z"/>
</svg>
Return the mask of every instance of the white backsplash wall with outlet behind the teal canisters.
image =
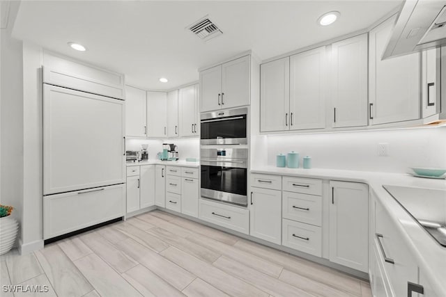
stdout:
<svg viewBox="0 0 446 297">
<path fill-rule="evenodd" d="M 294 150 L 312 157 L 313 168 L 407 172 L 410 166 L 446 168 L 446 127 L 275 135 L 268 138 L 268 160 Z M 388 143 L 389 156 L 378 156 L 378 143 Z M 261 161 L 259 161 L 262 163 Z M 255 166 L 255 165 L 254 165 Z"/>
</svg>

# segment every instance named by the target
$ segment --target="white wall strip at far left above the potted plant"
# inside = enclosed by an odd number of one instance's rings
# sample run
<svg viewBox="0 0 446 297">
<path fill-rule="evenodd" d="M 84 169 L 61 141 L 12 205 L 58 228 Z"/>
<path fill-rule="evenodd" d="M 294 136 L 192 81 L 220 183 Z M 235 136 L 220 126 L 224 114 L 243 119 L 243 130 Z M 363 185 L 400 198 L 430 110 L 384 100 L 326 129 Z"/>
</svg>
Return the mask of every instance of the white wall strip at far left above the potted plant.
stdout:
<svg viewBox="0 0 446 297">
<path fill-rule="evenodd" d="M 17 9 L 17 3 L 11 3 L 8 26 L 0 29 L 0 203 L 15 208 L 12 216 L 21 226 L 24 195 L 22 42 L 11 37 Z M 22 235 L 21 232 L 19 239 Z"/>
</svg>

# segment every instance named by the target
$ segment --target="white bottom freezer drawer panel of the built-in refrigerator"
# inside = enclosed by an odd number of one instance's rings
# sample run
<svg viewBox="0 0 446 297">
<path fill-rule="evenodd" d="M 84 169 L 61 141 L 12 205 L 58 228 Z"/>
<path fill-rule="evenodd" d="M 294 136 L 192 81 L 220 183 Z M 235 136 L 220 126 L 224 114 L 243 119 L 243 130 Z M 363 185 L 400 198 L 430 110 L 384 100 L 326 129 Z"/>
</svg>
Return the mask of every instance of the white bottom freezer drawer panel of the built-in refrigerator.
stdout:
<svg viewBox="0 0 446 297">
<path fill-rule="evenodd" d="M 43 239 L 125 214 L 125 184 L 43 197 Z"/>
</svg>

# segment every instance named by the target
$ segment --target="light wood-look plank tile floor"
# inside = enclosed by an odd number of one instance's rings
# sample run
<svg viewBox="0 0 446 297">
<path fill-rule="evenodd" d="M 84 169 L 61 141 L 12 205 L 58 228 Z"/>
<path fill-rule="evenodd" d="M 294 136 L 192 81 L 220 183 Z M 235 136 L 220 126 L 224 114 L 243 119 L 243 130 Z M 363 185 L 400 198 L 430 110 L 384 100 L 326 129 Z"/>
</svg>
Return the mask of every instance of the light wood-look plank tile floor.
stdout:
<svg viewBox="0 0 446 297">
<path fill-rule="evenodd" d="M 371 296 L 367 282 L 163 211 L 0 256 L 1 296 Z"/>
</svg>

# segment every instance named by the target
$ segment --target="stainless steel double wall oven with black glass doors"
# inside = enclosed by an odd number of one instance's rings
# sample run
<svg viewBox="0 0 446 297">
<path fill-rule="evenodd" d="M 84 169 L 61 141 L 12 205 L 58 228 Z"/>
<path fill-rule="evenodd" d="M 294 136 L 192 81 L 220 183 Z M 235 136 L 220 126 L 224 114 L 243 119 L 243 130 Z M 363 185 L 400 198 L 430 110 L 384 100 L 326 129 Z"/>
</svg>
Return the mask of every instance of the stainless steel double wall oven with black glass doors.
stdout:
<svg viewBox="0 0 446 297">
<path fill-rule="evenodd" d="M 201 197 L 247 206 L 247 108 L 201 114 Z"/>
</svg>

